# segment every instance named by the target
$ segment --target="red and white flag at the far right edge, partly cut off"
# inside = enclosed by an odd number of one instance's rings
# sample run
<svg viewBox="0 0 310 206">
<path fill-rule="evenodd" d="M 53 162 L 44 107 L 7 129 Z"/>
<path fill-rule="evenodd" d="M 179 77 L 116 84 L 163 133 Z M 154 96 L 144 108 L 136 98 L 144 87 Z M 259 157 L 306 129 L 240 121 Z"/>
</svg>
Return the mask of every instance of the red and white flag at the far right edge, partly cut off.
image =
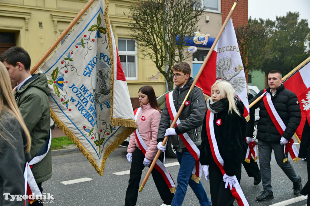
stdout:
<svg viewBox="0 0 310 206">
<path fill-rule="evenodd" d="M 296 94 L 299 101 L 301 121 L 295 133 L 300 139 L 303 133 L 303 126 L 307 118 L 307 113 L 309 114 L 310 111 L 310 63 L 308 62 L 304 65 L 283 84 L 286 89 Z"/>
</svg>

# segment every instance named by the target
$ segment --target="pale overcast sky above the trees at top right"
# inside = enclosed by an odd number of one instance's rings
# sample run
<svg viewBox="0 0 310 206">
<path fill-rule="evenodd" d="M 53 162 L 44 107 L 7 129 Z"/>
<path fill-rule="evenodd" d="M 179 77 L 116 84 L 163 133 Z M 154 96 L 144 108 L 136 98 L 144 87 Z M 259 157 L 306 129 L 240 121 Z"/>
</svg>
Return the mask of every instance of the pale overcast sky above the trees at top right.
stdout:
<svg viewBox="0 0 310 206">
<path fill-rule="evenodd" d="M 252 19 L 276 20 L 276 16 L 285 16 L 288 11 L 299 11 L 299 19 L 308 19 L 310 25 L 310 0 L 249 0 L 248 4 L 248 17 Z"/>
</svg>

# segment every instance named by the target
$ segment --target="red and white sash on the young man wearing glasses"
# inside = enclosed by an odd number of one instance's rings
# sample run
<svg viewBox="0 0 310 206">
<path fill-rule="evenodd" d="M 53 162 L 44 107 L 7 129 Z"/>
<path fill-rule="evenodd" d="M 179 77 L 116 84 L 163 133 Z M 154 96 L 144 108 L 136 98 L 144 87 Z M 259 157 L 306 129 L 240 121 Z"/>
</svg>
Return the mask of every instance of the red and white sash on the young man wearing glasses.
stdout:
<svg viewBox="0 0 310 206">
<path fill-rule="evenodd" d="M 173 121 L 176 114 L 177 114 L 177 111 L 176 111 L 175 106 L 173 104 L 172 92 L 169 92 L 168 94 L 166 94 L 166 103 L 167 103 L 167 109 L 169 111 L 170 118 Z M 175 127 L 177 127 L 177 125 L 180 123 L 181 123 L 181 121 L 178 119 L 175 123 Z M 200 151 L 197 148 L 197 146 L 194 144 L 193 140 L 188 136 L 188 134 L 186 132 L 183 134 L 180 134 L 179 136 L 180 136 L 182 142 L 184 143 L 184 145 L 186 146 L 186 148 L 188 149 L 188 151 L 193 155 L 193 157 L 196 160 L 195 167 L 194 167 L 193 172 L 192 172 L 192 174 L 193 174 L 192 180 L 199 183 L 199 180 L 200 180 L 201 174 L 202 174 L 202 166 L 199 162 Z"/>
</svg>

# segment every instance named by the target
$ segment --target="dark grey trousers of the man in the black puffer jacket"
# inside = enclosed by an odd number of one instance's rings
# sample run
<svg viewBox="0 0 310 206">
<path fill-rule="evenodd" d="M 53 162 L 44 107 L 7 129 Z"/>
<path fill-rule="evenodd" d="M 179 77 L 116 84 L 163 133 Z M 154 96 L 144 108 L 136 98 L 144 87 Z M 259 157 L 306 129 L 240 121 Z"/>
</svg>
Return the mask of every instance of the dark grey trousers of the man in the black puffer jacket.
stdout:
<svg viewBox="0 0 310 206">
<path fill-rule="evenodd" d="M 260 167 L 260 174 L 262 175 L 262 184 L 263 189 L 271 192 L 271 168 L 270 168 L 270 161 L 271 161 L 271 152 L 274 152 L 274 157 L 276 158 L 277 164 L 286 174 L 286 176 L 292 182 L 298 181 L 298 175 L 296 174 L 293 166 L 290 164 L 289 161 L 283 163 L 283 159 L 285 158 L 284 155 L 284 145 L 281 145 L 280 142 L 267 142 L 263 140 L 259 140 L 258 146 L 258 153 L 259 153 L 259 167 Z"/>
</svg>

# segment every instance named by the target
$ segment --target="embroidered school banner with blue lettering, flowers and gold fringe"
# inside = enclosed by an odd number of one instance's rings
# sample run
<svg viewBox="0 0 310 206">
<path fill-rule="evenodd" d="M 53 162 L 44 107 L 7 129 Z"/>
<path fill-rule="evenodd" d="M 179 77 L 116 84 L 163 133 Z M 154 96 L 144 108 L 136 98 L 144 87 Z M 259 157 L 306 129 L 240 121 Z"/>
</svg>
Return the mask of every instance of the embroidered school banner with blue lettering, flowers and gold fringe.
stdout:
<svg viewBox="0 0 310 206">
<path fill-rule="evenodd" d="M 51 117 L 103 175 L 109 154 L 136 129 L 108 1 L 96 3 L 40 71 Z"/>
</svg>

